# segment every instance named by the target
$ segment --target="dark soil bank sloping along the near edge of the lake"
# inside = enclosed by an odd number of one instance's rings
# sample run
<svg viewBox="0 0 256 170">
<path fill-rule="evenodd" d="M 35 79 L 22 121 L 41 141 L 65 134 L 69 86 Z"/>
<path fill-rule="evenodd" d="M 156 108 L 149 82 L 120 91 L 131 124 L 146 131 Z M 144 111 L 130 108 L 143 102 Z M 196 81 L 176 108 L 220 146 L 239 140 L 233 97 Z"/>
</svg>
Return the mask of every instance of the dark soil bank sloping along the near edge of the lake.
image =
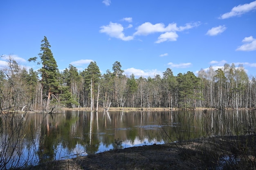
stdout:
<svg viewBox="0 0 256 170">
<path fill-rule="evenodd" d="M 53 161 L 27 169 L 215 170 L 256 169 L 255 135 L 139 146 Z"/>
</svg>

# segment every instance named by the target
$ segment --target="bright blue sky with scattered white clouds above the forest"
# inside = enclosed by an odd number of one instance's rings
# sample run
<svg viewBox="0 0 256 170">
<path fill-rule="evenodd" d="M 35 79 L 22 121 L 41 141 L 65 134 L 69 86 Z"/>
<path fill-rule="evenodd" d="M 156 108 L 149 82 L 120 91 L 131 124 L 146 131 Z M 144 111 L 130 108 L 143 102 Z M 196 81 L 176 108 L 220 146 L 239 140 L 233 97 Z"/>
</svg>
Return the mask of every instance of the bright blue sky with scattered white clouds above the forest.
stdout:
<svg viewBox="0 0 256 170">
<path fill-rule="evenodd" d="M 256 76 L 256 1 L 1 0 L 0 54 L 37 70 L 47 37 L 58 69 L 119 61 L 136 77 L 242 63 Z M 0 67 L 6 60 L 0 59 Z M 197 75 L 197 74 L 196 74 Z"/>
</svg>

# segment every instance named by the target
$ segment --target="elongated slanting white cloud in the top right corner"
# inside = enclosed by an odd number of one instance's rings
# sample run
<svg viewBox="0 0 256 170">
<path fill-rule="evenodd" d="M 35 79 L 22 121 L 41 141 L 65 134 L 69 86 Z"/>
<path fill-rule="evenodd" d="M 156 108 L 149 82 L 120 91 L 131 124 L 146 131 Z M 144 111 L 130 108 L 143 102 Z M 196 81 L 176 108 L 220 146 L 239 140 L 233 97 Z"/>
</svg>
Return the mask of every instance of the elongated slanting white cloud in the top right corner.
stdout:
<svg viewBox="0 0 256 170">
<path fill-rule="evenodd" d="M 229 17 L 240 16 L 254 9 L 256 9 L 256 1 L 249 4 L 238 5 L 234 7 L 230 12 L 221 15 L 219 19 L 227 19 Z"/>
</svg>

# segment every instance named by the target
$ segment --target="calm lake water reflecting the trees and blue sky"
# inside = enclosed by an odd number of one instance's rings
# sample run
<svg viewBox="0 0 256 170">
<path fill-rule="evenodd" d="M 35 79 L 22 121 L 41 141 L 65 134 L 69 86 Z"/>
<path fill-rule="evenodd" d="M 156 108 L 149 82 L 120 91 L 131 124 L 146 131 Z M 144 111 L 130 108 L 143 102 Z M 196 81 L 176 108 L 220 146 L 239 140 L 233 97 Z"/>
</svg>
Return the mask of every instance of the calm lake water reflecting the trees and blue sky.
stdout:
<svg viewBox="0 0 256 170">
<path fill-rule="evenodd" d="M 35 165 L 115 148 L 250 134 L 256 131 L 255 116 L 255 111 L 32 113 L 22 119 L 25 127 L 16 157 L 24 159 L 21 166 Z"/>
</svg>

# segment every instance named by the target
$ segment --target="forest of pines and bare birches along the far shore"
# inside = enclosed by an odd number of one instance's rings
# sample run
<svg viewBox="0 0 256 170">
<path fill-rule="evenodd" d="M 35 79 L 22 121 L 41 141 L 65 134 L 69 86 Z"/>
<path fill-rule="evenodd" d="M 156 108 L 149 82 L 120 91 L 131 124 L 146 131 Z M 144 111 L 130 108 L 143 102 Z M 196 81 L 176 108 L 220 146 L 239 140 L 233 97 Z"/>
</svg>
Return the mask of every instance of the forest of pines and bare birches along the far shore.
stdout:
<svg viewBox="0 0 256 170">
<path fill-rule="evenodd" d="M 101 74 L 91 62 L 83 71 L 73 65 L 60 72 L 47 37 L 41 41 L 38 57 L 30 58 L 39 70 L 22 67 L 11 55 L 0 68 L 0 109 L 50 110 L 59 108 L 181 108 L 239 109 L 256 104 L 256 79 L 247 75 L 243 65 L 226 63 L 222 69 L 201 69 L 173 75 L 167 68 L 163 75 L 135 78 L 124 75 L 121 63 Z"/>
</svg>

